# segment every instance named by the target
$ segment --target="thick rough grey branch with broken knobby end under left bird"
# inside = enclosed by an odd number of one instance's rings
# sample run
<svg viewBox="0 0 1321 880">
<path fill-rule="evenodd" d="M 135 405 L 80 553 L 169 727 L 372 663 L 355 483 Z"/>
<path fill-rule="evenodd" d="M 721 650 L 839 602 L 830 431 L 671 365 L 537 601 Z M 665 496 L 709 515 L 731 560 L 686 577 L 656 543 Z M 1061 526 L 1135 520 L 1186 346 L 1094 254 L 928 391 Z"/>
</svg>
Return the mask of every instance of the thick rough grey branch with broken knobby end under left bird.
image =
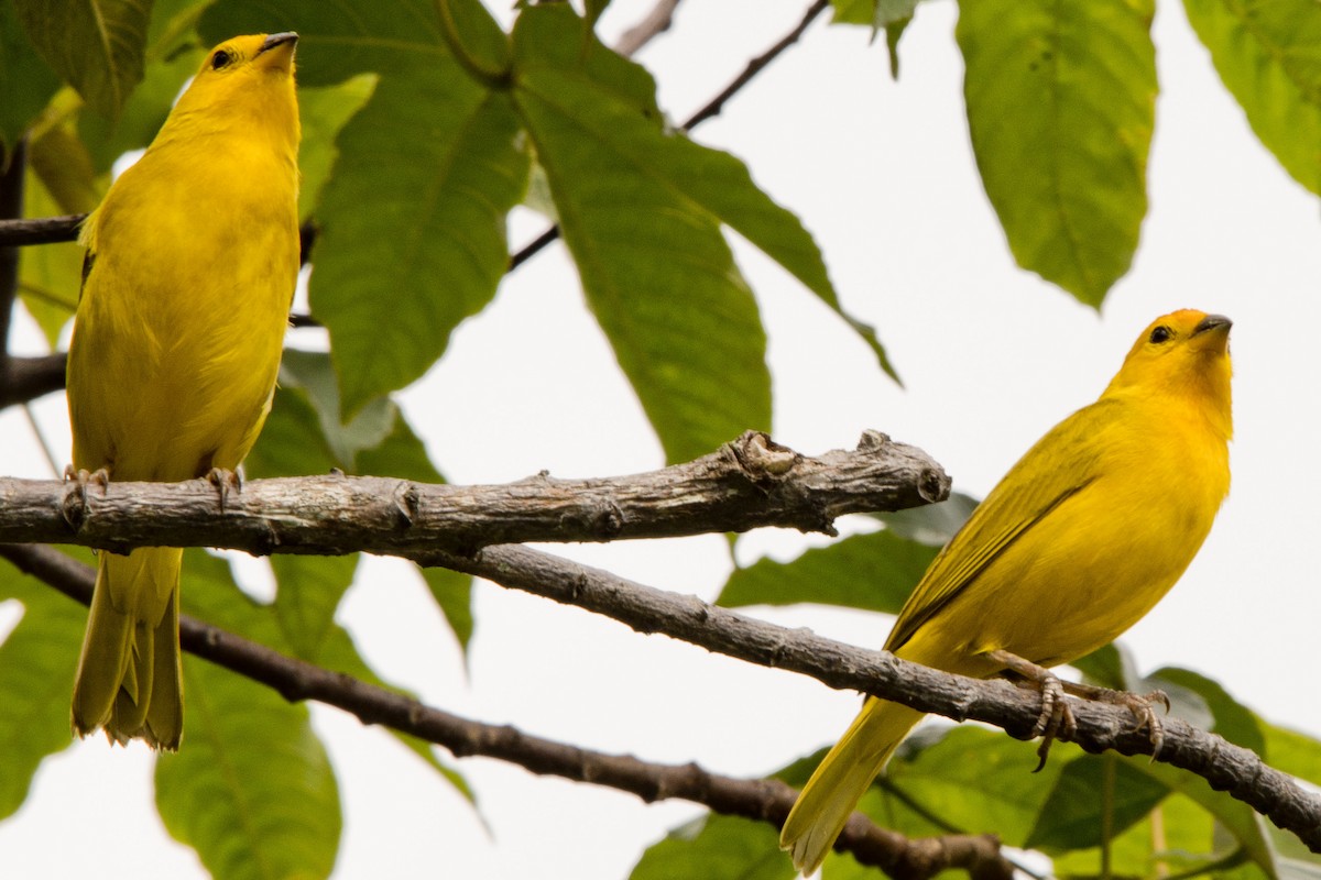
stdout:
<svg viewBox="0 0 1321 880">
<path fill-rule="evenodd" d="M 83 483 L 0 478 L 0 542 L 215 546 L 255 554 L 472 555 L 493 544 L 617 541 L 777 525 L 834 534 L 844 513 L 939 501 L 950 478 L 919 449 L 867 431 L 818 458 L 748 431 L 686 464 L 621 478 L 435 486 L 332 474 Z"/>
</svg>

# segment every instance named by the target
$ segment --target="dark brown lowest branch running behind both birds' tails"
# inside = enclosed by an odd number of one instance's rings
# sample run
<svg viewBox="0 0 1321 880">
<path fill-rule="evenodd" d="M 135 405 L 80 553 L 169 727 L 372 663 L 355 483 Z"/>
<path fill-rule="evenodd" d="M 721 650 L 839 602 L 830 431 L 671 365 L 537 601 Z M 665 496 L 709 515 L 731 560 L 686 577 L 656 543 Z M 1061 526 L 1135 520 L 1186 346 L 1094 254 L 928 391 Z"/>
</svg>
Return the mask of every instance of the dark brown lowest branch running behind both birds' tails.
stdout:
<svg viewBox="0 0 1321 880">
<path fill-rule="evenodd" d="M 95 573 L 52 548 L 0 545 L 0 557 L 20 570 L 87 604 Z M 630 755 L 609 755 L 542 739 L 510 726 L 460 718 L 415 699 L 218 629 L 193 617 L 180 620 L 180 643 L 198 657 L 258 681 L 289 701 L 314 699 L 386 724 L 449 749 L 456 757 L 481 755 L 518 764 L 543 776 L 559 776 L 630 792 L 646 802 L 679 798 L 728 815 L 779 827 L 797 792 L 778 780 L 738 780 L 696 764 L 654 764 Z M 992 835 L 909 839 L 852 817 L 838 848 L 898 880 L 925 880 L 960 868 L 979 880 L 1009 880 L 1012 865 Z"/>
</svg>

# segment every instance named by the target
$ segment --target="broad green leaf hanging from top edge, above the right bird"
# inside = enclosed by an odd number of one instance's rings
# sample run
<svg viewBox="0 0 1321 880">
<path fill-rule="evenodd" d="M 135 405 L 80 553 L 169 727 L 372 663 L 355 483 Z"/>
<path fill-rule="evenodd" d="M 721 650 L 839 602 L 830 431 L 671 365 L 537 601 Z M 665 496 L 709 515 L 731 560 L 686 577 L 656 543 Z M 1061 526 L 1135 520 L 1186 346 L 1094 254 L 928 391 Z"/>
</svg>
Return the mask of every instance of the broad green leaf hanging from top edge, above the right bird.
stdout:
<svg viewBox="0 0 1321 880">
<path fill-rule="evenodd" d="M 1025 269 L 1099 307 L 1147 212 L 1152 0 L 962 0 L 972 149 Z"/>
</svg>

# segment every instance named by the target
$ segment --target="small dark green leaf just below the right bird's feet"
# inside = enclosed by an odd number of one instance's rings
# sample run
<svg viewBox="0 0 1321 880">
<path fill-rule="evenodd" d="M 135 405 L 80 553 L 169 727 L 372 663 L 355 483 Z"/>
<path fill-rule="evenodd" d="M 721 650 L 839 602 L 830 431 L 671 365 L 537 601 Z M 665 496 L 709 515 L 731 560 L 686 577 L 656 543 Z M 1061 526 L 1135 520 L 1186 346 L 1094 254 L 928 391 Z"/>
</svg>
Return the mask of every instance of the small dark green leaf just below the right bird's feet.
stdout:
<svg viewBox="0 0 1321 880">
<path fill-rule="evenodd" d="M 1024 846 L 1048 854 L 1102 846 L 1107 813 L 1111 834 L 1120 834 L 1168 794 L 1114 752 L 1082 755 L 1065 764 Z"/>
</svg>

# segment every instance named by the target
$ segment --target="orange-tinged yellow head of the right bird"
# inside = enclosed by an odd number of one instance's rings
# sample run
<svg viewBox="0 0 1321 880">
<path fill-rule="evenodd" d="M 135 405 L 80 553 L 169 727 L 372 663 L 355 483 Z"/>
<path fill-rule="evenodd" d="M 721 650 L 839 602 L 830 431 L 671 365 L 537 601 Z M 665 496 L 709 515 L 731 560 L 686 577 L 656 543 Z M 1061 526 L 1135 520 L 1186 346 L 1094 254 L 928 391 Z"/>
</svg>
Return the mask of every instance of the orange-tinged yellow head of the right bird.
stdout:
<svg viewBox="0 0 1321 880">
<path fill-rule="evenodd" d="M 1181 309 L 1153 321 L 1124 359 L 1106 394 L 1172 393 L 1230 424 L 1230 327 L 1225 315 Z"/>
</svg>

